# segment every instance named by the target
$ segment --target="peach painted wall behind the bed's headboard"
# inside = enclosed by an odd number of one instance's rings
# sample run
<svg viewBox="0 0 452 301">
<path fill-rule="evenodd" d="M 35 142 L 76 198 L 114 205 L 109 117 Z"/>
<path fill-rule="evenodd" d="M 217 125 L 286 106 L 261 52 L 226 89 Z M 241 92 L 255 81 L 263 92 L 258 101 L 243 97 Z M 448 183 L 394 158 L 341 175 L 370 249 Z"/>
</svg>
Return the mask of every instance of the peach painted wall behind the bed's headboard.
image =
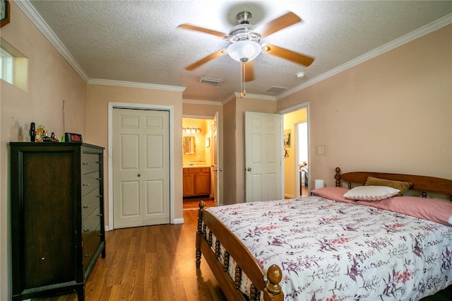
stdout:
<svg viewBox="0 0 452 301">
<path fill-rule="evenodd" d="M 452 179 L 451 86 L 448 25 L 281 99 L 278 110 L 309 102 L 311 187 L 334 186 L 337 166 Z"/>
</svg>

